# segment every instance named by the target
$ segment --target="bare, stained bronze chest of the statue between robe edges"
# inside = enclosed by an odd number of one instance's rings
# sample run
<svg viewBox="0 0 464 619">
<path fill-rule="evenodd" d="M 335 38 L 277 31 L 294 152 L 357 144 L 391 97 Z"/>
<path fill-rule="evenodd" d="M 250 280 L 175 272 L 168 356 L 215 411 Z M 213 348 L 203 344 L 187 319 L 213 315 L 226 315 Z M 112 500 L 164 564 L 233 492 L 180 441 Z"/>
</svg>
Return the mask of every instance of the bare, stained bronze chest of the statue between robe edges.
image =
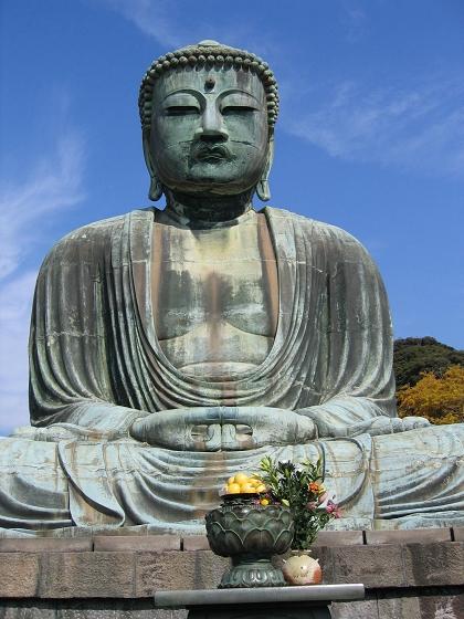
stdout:
<svg viewBox="0 0 464 619">
<path fill-rule="evenodd" d="M 277 269 L 264 217 L 204 231 L 155 225 L 151 295 L 160 339 L 230 325 L 272 336 Z"/>
</svg>

